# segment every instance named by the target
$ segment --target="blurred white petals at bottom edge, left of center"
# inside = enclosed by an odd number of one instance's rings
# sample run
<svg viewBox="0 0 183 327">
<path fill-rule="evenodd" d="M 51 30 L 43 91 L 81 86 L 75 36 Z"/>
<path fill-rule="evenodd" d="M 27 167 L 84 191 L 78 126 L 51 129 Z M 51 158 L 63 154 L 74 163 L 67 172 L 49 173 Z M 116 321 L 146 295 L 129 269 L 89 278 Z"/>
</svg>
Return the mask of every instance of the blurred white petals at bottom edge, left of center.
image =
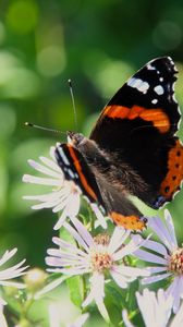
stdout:
<svg viewBox="0 0 183 327">
<path fill-rule="evenodd" d="M 49 311 L 49 327 L 60 327 L 63 312 L 60 310 L 57 303 L 51 303 L 49 305 L 48 311 Z M 88 316 L 89 314 L 85 313 L 78 316 L 74 323 L 66 324 L 66 327 L 82 327 L 86 323 Z"/>
</svg>

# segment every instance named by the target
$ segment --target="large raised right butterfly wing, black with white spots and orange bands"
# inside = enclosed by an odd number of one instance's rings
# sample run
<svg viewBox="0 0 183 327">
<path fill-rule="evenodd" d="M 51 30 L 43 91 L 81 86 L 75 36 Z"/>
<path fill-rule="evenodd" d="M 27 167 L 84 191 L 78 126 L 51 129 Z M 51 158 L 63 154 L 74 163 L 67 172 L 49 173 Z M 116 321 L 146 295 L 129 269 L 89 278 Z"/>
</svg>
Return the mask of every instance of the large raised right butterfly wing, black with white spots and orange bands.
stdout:
<svg viewBox="0 0 183 327">
<path fill-rule="evenodd" d="M 180 121 L 176 72 L 169 57 L 147 63 L 105 107 L 90 134 L 101 149 L 118 156 L 119 167 L 125 161 L 144 179 L 155 194 L 155 208 L 171 201 L 183 179 L 183 147 L 174 136 Z"/>
</svg>

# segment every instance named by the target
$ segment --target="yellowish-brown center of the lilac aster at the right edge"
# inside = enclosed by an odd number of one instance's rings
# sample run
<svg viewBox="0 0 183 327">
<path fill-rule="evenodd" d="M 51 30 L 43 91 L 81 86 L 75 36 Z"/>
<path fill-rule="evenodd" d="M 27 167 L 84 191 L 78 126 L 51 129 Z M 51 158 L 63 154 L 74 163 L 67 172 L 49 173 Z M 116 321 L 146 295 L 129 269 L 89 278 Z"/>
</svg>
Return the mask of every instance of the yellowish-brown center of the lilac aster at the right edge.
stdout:
<svg viewBox="0 0 183 327">
<path fill-rule="evenodd" d="M 176 249 L 169 262 L 169 270 L 179 275 L 183 274 L 183 247 Z"/>
</svg>

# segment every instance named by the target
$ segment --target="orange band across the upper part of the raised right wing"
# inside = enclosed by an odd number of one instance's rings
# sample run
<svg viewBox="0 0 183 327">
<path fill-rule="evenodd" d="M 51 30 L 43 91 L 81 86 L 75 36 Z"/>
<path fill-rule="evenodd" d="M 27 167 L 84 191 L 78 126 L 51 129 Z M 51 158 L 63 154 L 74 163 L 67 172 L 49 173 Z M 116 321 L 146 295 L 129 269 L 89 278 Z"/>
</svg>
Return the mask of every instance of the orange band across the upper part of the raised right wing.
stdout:
<svg viewBox="0 0 183 327">
<path fill-rule="evenodd" d="M 170 121 L 166 112 L 160 108 L 147 109 L 139 106 L 133 106 L 132 108 L 123 106 L 107 106 L 103 116 L 109 118 L 121 118 L 121 119 L 136 119 L 142 118 L 145 121 L 149 121 L 157 128 L 161 133 L 167 133 L 170 129 Z"/>
</svg>

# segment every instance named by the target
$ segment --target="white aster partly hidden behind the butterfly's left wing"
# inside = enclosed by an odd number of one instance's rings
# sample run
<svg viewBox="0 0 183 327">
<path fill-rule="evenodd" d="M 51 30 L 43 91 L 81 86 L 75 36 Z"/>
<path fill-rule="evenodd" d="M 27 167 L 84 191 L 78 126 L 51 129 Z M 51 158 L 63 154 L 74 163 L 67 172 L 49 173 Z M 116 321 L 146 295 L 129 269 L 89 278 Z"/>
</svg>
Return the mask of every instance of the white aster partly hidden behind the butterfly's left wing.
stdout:
<svg viewBox="0 0 183 327">
<path fill-rule="evenodd" d="M 77 216 L 80 210 L 82 191 L 72 181 L 66 181 L 61 168 L 58 166 L 54 157 L 56 148 L 50 148 L 50 158 L 39 157 L 40 162 L 28 160 L 28 164 L 46 177 L 35 177 L 30 174 L 23 175 L 23 182 L 51 187 L 51 192 L 41 195 L 24 196 L 25 199 L 37 201 L 32 209 L 52 208 L 53 213 L 60 213 L 61 216 L 54 226 L 54 230 L 61 228 L 66 217 L 71 220 Z M 96 204 L 90 204 L 99 223 L 107 228 L 107 222 Z"/>
</svg>

